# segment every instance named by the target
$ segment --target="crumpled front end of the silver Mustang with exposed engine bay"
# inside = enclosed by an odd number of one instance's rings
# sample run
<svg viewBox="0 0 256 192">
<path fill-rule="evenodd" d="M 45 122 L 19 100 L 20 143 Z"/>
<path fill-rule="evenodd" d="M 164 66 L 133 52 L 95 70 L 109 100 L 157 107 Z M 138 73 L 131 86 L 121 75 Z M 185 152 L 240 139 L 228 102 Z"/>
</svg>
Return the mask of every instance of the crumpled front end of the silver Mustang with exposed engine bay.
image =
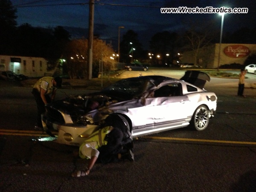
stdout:
<svg viewBox="0 0 256 192">
<path fill-rule="evenodd" d="M 56 101 L 46 106 L 42 114 L 44 130 L 52 137 L 53 131 L 58 131 L 57 143 L 80 145 L 84 137 L 88 137 L 104 119 L 112 113 L 107 96 L 76 96 Z"/>
</svg>

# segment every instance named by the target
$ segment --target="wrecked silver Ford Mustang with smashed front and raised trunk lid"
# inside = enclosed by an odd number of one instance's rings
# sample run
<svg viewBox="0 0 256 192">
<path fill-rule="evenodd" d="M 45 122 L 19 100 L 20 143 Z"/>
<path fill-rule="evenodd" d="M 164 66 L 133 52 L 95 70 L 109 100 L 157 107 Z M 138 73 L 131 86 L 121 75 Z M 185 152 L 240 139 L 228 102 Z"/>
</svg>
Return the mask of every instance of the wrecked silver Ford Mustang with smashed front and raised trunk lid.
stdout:
<svg viewBox="0 0 256 192">
<path fill-rule="evenodd" d="M 122 79 L 100 92 L 67 97 L 46 106 L 44 129 L 58 131 L 57 142 L 80 145 L 104 125 L 122 120 L 132 137 L 191 125 L 207 128 L 217 96 L 204 90 L 206 73 L 187 71 L 181 79 L 140 76 Z M 108 122 L 111 124 L 111 122 Z"/>
</svg>

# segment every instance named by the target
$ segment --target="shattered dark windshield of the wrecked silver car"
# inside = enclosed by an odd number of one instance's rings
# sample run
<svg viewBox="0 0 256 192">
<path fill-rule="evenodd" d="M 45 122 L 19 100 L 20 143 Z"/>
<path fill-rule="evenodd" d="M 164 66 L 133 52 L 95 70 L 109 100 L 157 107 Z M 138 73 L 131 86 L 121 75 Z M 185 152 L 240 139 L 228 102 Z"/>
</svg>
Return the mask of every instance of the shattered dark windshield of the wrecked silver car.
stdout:
<svg viewBox="0 0 256 192">
<path fill-rule="evenodd" d="M 103 91 L 114 91 L 129 94 L 130 96 L 138 97 L 144 93 L 145 90 L 152 87 L 148 79 L 131 78 L 117 81 L 111 86 L 105 88 Z"/>
</svg>

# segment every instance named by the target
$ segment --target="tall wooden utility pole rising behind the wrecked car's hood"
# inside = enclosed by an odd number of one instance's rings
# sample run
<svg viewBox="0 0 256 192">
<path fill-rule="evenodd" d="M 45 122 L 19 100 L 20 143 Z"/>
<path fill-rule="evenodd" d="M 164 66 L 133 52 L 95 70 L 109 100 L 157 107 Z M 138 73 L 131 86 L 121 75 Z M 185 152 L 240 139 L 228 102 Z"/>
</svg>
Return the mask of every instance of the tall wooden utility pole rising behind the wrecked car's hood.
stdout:
<svg viewBox="0 0 256 192">
<path fill-rule="evenodd" d="M 93 20 L 94 20 L 94 0 L 89 0 L 89 34 L 88 34 L 88 62 L 87 78 L 92 79 L 93 74 Z"/>
</svg>

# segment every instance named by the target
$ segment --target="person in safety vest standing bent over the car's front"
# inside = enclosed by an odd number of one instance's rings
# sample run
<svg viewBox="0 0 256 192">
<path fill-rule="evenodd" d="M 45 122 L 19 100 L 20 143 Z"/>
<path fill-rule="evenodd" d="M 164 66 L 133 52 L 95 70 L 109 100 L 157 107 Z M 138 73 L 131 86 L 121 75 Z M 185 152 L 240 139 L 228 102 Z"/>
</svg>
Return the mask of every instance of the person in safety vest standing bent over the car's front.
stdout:
<svg viewBox="0 0 256 192">
<path fill-rule="evenodd" d="M 33 86 L 32 94 L 38 109 L 35 129 L 43 129 L 41 114 L 45 112 L 45 105 L 54 101 L 57 87 L 61 87 L 61 83 L 61 77 L 46 76 L 39 79 Z M 51 98 L 49 95 L 52 95 Z"/>
</svg>

